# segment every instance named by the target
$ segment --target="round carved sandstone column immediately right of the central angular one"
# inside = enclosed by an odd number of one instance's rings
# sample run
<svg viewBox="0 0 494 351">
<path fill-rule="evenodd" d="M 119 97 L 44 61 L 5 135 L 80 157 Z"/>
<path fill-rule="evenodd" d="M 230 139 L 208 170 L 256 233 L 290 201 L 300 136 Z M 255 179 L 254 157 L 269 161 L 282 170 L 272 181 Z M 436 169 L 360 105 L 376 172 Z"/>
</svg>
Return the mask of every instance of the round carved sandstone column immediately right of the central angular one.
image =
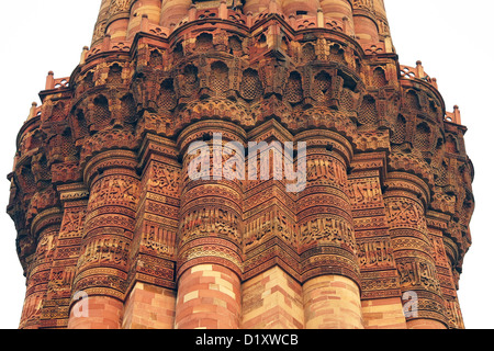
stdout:
<svg viewBox="0 0 494 351">
<path fill-rule="evenodd" d="M 351 146 L 329 131 L 302 132 L 295 138 L 307 144 L 307 183 L 296 204 L 305 328 L 362 328 L 360 273 L 346 192 Z"/>
</svg>

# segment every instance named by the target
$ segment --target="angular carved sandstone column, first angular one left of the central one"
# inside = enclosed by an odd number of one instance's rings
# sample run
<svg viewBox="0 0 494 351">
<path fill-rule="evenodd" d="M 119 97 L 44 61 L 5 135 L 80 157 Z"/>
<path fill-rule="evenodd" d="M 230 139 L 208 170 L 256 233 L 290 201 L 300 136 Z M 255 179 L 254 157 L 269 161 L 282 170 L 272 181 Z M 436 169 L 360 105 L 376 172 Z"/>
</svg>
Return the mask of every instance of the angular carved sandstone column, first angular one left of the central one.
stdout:
<svg viewBox="0 0 494 351">
<path fill-rule="evenodd" d="M 170 139 L 147 134 L 138 152 L 142 179 L 123 328 L 172 329 L 181 165 Z"/>
</svg>

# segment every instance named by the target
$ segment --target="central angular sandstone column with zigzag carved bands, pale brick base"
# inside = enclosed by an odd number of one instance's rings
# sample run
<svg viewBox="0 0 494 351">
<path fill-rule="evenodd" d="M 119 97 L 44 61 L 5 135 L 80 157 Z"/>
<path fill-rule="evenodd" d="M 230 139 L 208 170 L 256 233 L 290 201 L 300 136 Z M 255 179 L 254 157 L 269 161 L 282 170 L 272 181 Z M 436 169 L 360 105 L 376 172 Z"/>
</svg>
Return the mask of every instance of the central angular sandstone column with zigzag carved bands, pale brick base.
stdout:
<svg viewBox="0 0 494 351">
<path fill-rule="evenodd" d="M 288 192 L 289 185 L 295 185 L 290 173 L 299 169 L 294 155 L 284 147 L 293 135 L 271 120 L 250 131 L 248 140 L 242 328 L 301 329 L 302 285 L 294 279 L 299 272 L 293 259 L 297 257 L 296 192 Z M 303 185 L 303 176 L 299 179 Z"/>
</svg>

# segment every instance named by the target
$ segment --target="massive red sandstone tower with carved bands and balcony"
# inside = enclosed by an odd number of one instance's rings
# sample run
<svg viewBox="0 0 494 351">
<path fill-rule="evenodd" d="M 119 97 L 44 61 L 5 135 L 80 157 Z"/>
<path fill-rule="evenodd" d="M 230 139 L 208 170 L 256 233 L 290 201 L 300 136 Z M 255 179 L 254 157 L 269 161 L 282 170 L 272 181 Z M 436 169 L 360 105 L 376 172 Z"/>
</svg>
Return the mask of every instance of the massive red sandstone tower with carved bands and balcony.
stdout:
<svg viewBox="0 0 494 351">
<path fill-rule="evenodd" d="M 383 0 L 102 0 L 40 97 L 20 328 L 463 328 L 467 128 Z"/>
</svg>

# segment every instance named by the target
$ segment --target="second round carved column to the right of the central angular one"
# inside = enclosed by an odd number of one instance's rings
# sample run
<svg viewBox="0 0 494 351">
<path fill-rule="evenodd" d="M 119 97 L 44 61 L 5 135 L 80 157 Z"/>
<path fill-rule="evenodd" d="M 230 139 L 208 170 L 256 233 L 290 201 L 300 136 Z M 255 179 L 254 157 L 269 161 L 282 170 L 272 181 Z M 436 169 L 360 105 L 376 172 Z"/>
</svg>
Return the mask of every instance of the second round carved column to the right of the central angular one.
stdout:
<svg viewBox="0 0 494 351">
<path fill-rule="evenodd" d="M 445 301 L 425 215 L 430 196 L 428 185 L 416 176 L 393 172 L 385 188 L 384 203 L 407 327 L 444 329 Z"/>
</svg>

